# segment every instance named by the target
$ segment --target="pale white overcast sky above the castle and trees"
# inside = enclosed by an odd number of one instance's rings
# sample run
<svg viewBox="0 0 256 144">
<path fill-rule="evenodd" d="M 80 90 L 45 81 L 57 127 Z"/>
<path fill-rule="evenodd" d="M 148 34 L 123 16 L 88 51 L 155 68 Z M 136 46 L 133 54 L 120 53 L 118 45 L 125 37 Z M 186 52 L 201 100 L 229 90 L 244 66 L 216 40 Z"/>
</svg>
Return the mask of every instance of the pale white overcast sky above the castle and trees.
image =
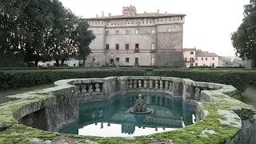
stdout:
<svg viewBox="0 0 256 144">
<path fill-rule="evenodd" d="M 184 48 L 196 47 L 222 56 L 233 56 L 230 34 L 243 18 L 243 6 L 250 0 L 60 0 L 78 16 L 121 15 L 122 6 L 133 5 L 137 13 L 157 12 L 186 14 Z"/>
</svg>

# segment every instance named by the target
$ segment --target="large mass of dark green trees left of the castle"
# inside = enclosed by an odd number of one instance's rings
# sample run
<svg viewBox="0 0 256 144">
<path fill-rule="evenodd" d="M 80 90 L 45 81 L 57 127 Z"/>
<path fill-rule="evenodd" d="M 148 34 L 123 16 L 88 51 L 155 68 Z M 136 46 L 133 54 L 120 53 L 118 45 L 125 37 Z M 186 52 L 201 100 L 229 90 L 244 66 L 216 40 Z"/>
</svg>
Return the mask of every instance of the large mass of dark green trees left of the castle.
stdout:
<svg viewBox="0 0 256 144">
<path fill-rule="evenodd" d="M 58 0 L 1 0 L 0 66 L 85 59 L 95 38 L 88 27 Z"/>
</svg>

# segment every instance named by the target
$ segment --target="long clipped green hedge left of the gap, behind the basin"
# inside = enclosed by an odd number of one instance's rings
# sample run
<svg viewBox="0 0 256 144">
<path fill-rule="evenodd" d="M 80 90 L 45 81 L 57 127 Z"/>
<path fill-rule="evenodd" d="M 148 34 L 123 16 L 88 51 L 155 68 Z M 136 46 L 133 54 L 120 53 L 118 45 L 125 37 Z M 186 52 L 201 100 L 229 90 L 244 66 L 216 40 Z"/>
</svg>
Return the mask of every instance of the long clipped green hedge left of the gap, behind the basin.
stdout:
<svg viewBox="0 0 256 144">
<path fill-rule="evenodd" d="M 146 75 L 146 70 L 5 70 L 0 71 L 0 90 L 34 86 L 69 78 L 106 78 Z"/>
</svg>

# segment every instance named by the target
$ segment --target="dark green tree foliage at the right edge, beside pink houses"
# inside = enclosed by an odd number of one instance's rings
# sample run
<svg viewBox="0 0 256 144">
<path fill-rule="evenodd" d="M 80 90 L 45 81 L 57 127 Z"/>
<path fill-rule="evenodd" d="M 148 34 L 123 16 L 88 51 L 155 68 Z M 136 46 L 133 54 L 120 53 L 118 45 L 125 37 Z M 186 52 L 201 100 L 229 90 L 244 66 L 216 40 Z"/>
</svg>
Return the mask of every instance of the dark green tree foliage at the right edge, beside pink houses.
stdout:
<svg viewBox="0 0 256 144">
<path fill-rule="evenodd" d="M 244 16 L 238 30 L 231 34 L 231 40 L 239 57 L 252 59 L 256 66 L 256 0 L 250 0 L 245 6 Z"/>
</svg>

